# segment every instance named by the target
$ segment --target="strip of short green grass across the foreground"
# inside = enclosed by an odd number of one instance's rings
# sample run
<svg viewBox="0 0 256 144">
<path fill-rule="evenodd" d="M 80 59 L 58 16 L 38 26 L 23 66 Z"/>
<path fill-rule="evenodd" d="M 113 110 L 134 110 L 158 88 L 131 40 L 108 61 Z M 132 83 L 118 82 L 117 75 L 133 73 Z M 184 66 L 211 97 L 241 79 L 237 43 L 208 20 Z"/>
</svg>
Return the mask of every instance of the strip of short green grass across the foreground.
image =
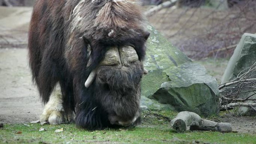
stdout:
<svg viewBox="0 0 256 144">
<path fill-rule="evenodd" d="M 176 133 L 170 128 L 170 120 L 176 115 L 173 111 L 144 111 L 142 123 L 135 128 L 104 129 L 86 131 L 74 124 L 4 124 L 0 129 L 1 144 L 81 144 L 81 143 L 133 143 L 133 144 L 254 144 L 256 135 L 220 132 Z M 39 131 L 45 128 L 46 131 Z M 63 128 L 63 132 L 55 132 Z"/>
</svg>

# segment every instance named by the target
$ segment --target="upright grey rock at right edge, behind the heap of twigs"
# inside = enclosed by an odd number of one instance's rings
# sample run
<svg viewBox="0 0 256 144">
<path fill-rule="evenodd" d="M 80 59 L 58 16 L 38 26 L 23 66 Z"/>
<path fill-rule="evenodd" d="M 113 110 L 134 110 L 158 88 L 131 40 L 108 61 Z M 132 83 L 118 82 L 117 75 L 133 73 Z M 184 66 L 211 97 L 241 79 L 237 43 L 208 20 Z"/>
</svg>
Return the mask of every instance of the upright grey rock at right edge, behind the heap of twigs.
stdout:
<svg viewBox="0 0 256 144">
<path fill-rule="evenodd" d="M 235 79 L 238 74 L 241 74 L 248 71 L 248 68 L 251 67 L 256 62 L 256 34 L 243 34 L 237 48 L 234 50 L 234 54 L 230 58 L 227 68 L 222 77 L 222 84 L 230 80 Z M 246 70 L 247 69 L 247 70 Z M 256 78 L 256 72 L 250 74 L 250 78 Z M 256 88 L 246 89 L 245 91 L 256 90 Z M 241 90 L 240 90 L 241 91 Z M 240 94 L 241 98 L 247 98 L 248 96 L 254 94 L 254 92 L 247 92 Z M 252 96 L 252 99 L 255 99 L 256 96 Z M 253 102 L 253 101 L 249 101 Z M 247 115 L 255 113 L 253 108 L 240 107 L 237 111 L 238 115 Z"/>
</svg>

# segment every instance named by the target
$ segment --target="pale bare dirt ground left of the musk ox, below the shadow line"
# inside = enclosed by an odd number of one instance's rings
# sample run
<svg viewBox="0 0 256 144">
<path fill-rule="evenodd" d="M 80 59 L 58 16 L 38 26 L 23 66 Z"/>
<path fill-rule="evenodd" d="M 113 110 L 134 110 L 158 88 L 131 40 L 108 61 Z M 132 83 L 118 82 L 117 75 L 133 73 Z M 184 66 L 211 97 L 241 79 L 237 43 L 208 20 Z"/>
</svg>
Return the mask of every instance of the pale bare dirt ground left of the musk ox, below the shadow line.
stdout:
<svg viewBox="0 0 256 144">
<path fill-rule="evenodd" d="M 39 119 L 42 112 L 27 62 L 27 49 L 0 49 L 0 122 Z"/>
</svg>

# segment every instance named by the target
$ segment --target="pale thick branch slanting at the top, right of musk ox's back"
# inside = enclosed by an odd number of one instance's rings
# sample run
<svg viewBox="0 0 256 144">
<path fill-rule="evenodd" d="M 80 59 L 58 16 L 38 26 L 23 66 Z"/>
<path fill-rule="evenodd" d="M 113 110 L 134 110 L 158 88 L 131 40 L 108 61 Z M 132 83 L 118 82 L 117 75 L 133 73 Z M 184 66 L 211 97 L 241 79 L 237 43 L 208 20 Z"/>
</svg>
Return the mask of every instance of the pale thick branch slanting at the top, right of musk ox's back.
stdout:
<svg viewBox="0 0 256 144">
<path fill-rule="evenodd" d="M 176 1 L 178 1 L 178 0 L 165 1 L 162 4 L 159 4 L 158 6 L 155 6 L 155 7 L 151 8 L 151 9 L 147 10 L 146 12 L 144 12 L 144 14 L 146 16 L 151 16 L 151 15 L 153 15 L 153 13 L 158 12 L 161 9 L 173 6 L 176 3 Z"/>
</svg>

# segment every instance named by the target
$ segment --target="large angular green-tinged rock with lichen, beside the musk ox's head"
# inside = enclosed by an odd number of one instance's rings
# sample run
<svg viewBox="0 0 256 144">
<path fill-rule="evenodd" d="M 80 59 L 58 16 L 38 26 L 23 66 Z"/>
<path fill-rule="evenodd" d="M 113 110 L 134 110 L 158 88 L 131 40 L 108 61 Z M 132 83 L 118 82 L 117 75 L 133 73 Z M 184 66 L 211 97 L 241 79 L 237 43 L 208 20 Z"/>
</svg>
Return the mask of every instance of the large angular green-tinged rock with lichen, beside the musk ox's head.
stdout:
<svg viewBox="0 0 256 144">
<path fill-rule="evenodd" d="M 149 73 L 144 75 L 141 82 L 141 105 L 144 108 L 153 105 L 153 109 L 193 111 L 205 116 L 218 113 L 219 89 L 216 79 L 171 45 L 153 27 L 148 25 L 147 29 L 151 34 L 146 44 L 144 67 Z"/>
</svg>

